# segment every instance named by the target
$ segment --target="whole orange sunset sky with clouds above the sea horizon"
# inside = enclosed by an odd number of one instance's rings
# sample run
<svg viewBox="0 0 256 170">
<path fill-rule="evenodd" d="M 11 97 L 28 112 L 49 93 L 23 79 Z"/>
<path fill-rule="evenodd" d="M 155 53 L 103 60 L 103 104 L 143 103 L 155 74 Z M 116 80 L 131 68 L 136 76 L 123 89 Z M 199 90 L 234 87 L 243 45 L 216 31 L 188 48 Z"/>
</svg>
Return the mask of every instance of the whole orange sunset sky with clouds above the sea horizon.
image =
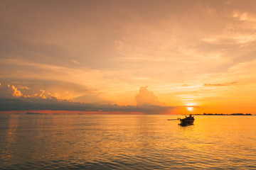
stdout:
<svg viewBox="0 0 256 170">
<path fill-rule="evenodd" d="M 0 0 L 0 113 L 256 114 L 256 1 Z"/>
</svg>

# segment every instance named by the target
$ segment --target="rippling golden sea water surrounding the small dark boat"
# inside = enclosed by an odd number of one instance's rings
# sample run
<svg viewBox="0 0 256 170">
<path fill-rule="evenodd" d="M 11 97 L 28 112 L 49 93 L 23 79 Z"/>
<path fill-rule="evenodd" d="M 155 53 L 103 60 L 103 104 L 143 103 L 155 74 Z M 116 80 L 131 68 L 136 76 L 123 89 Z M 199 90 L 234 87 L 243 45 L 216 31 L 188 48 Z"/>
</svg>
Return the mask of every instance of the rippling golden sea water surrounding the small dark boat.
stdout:
<svg viewBox="0 0 256 170">
<path fill-rule="evenodd" d="M 256 116 L 171 118 L 0 115 L 0 169 L 256 169 Z"/>
</svg>

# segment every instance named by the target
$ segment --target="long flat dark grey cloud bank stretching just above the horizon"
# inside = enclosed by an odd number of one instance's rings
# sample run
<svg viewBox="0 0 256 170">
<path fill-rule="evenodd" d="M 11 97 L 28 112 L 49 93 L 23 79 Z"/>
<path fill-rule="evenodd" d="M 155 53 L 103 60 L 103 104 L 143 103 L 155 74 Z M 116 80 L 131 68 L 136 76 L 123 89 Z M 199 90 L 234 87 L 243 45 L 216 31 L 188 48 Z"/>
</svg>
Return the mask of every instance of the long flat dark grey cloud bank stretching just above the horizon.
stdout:
<svg viewBox="0 0 256 170">
<path fill-rule="evenodd" d="M 0 111 L 28 111 L 28 110 L 51 110 L 51 111 L 98 111 L 98 112 L 124 112 L 161 114 L 170 112 L 176 107 L 171 106 L 119 106 L 98 105 L 92 103 L 75 103 L 70 101 L 54 101 L 47 98 L 0 98 Z"/>
</svg>

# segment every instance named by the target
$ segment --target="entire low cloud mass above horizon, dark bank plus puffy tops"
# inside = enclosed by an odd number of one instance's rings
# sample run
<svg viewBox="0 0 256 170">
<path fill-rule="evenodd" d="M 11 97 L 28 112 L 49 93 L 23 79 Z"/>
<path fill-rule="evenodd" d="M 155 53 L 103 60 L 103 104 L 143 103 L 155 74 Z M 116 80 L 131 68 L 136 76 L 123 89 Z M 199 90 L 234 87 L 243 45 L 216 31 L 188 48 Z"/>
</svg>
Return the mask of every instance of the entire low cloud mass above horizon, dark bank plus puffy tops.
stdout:
<svg viewBox="0 0 256 170">
<path fill-rule="evenodd" d="M 5 89 L 1 87 L 0 92 L 4 90 L 7 90 L 6 94 L 8 95 L 0 96 L 0 111 L 50 110 L 164 114 L 171 113 L 174 108 L 177 108 L 165 106 L 153 91 L 147 89 L 147 86 L 142 86 L 139 89 L 139 94 L 136 96 L 137 106 L 73 102 L 56 98 L 44 90 L 33 95 L 23 95 L 13 85 L 6 85 Z"/>
</svg>

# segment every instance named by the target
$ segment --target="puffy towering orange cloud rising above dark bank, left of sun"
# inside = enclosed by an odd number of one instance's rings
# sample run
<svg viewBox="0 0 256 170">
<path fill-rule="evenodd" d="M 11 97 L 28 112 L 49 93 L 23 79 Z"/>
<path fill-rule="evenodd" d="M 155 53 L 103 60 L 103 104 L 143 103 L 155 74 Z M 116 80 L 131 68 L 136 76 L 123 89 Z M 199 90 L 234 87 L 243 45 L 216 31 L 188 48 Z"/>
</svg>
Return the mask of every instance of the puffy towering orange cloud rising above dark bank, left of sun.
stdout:
<svg viewBox="0 0 256 170">
<path fill-rule="evenodd" d="M 159 101 L 153 91 L 147 89 L 148 86 L 142 86 L 139 89 L 139 94 L 135 96 L 137 106 L 165 106 L 164 102 Z"/>
</svg>

